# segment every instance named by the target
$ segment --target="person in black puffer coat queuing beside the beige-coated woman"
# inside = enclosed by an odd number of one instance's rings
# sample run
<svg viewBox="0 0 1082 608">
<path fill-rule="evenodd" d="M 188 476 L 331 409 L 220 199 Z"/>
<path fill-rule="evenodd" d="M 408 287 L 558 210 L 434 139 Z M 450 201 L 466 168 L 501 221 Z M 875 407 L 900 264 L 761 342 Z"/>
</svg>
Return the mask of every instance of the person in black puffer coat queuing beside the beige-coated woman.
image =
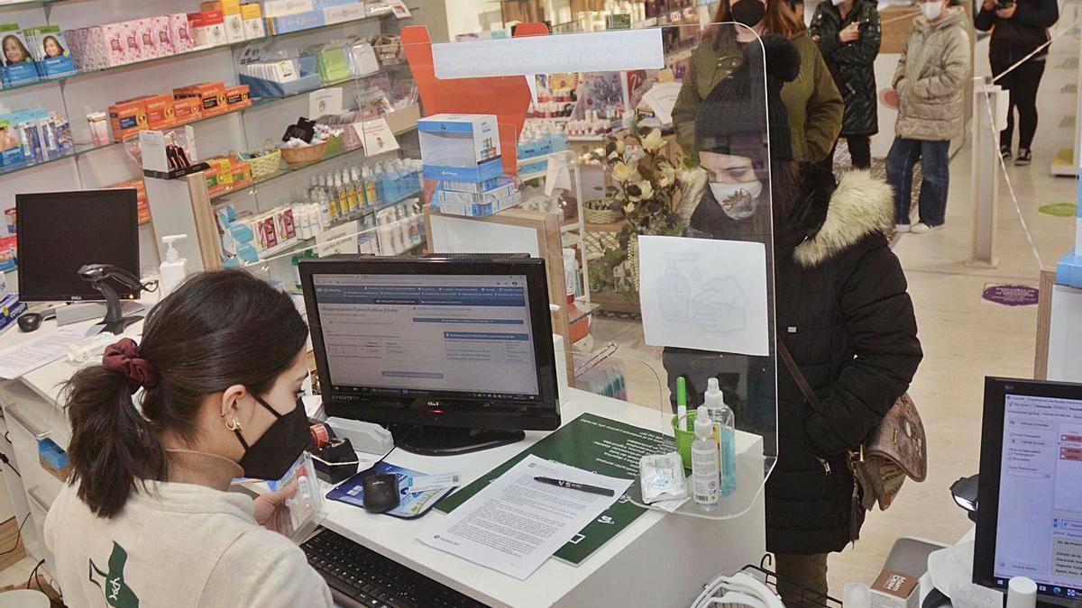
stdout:
<svg viewBox="0 0 1082 608">
<path fill-rule="evenodd" d="M 849 146 L 853 167 L 870 169 L 871 136 L 879 133 L 874 68 L 881 38 L 879 8 L 874 0 L 820 2 L 808 35 L 819 45 L 845 100 L 840 136 Z M 833 157 L 831 150 L 830 158 Z"/>
</svg>

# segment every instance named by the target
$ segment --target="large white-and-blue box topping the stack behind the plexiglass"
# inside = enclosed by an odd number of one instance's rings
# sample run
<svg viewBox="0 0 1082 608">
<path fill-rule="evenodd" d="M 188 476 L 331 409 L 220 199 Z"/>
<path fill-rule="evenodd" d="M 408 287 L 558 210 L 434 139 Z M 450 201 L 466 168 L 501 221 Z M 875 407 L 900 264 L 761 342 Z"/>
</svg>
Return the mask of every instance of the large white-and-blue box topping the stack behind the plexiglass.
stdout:
<svg viewBox="0 0 1082 608">
<path fill-rule="evenodd" d="M 480 183 L 503 174 L 496 116 L 438 114 L 417 128 L 426 179 Z"/>
</svg>

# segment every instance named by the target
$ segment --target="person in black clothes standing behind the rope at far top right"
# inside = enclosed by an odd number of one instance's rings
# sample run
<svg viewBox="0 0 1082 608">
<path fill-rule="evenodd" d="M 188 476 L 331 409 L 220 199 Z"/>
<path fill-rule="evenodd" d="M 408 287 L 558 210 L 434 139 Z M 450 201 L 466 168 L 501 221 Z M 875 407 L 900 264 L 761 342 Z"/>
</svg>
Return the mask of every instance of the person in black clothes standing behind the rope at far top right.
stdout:
<svg viewBox="0 0 1082 608">
<path fill-rule="evenodd" d="M 1044 44 L 1048 41 L 1048 28 L 1057 21 L 1059 6 L 1056 0 L 985 0 L 974 17 L 977 29 L 992 30 L 988 52 L 992 78 L 1011 95 L 1007 125 L 1000 132 L 1000 154 L 1004 159 L 1011 158 L 1014 110 L 1018 108 L 1016 166 L 1027 166 L 1033 158 L 1030 149 L 1037 133 L 1037 90 L 1048 56 L 1048 47 Z M 1033 54 L 1038 49 L 1041 50 Z M 1030 54 L 1033 56 L 1030 57 Z M 997 78 L 1022 60 L 1021 65 Z"/>
</svg>

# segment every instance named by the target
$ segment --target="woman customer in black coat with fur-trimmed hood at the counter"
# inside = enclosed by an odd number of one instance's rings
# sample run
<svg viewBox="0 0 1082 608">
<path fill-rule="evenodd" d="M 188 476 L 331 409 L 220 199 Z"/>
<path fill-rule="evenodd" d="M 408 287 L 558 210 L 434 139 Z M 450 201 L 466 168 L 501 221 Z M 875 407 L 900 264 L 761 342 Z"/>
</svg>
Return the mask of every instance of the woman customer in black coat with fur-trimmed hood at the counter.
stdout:
<svg viewBox="0 0 1082 608">
<path fill-rule="evenodd" d="M 908 389 L 922 352 L 906 277 L 885 237 L 894 219 L 889 186 L 867 171 L 846 173 L 835 185 L 821 163 L 790 160 L 778 92 L 784 78 L 795 76 L 789 60 L 796 51 L 781 37 L 763 42 L 765 103 L 747 93 L 763 90 L 755 85 L 756 70 L 737 69 L 711 92 L 713 103 L 704 102 L 700 109 L 697 140 L 705 151 L 700 160 L 711 173 L 711 188 L 691 213 L 688 233 L 761 240 L 770 234 L 766 210 L 771 211 L 773 238 L 765 242 L 773 242 L 768 285 L 776 303 L 775 339 L 784 341 L 823 411 L 812 410 L 780 360 L 776 394 L 769 358 L 667 348 L 663 365 L 670 386 L 685 375 L 691 394 L 701 393 L 709 378 L 718 378 L 726 402 L 736 405 L 738 427 L 767 438 L 770 421 L 765 415 L 756 421 L 756 412 L 769 408 L 773 414 L 776 399 L 778 459 L 766 481 L 766 545 L 776 554 L 781 579 L 826 594 L 827 555 L 856 540 L 865 518 L 853 501 L 847 453 Z M 744 63 L 754 64 L 753 52 L 745 51 Z M 795 65 L 799 70 L 800 62 Z M 762 140 L 767 121 L 768 158 L 763 146 L 747 145 L 756 135 Z M 769 193 L 764 188 L 752 197 L 758 203 L 735 206 L 737 195 L 720 202 L 714 190 L 731 188 L 715 187 L 729 180 L 710 170 L 711 154 L 729 159 L 729 167 L 740 164 L 734 158 L 744 158 L 757 168 Z M 754 210 L 750 216 L 749 208 Z M 734 212 L 740 210 L 744 213 Z M 801 605 L 792 587 L 781 585 L 780 592 L 787 606 Z"/>
</svg>

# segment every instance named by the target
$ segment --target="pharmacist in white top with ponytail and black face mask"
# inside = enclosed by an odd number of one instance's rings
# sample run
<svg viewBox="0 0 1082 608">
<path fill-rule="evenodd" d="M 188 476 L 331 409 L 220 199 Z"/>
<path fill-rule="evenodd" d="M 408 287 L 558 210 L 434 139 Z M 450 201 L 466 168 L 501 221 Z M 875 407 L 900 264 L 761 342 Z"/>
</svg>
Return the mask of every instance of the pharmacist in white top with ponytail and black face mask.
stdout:
<svg viewBox="0 0 1082 608">
<path fill-rule="evenodd" d="M 308 331 L 287 293 L 242 270 L 196 275 L 67 385 L 69 484 L 45 546 L 69 606 L 331 606 L 283 532 L 280 479 L 311 441 Z"/>
</svg>

